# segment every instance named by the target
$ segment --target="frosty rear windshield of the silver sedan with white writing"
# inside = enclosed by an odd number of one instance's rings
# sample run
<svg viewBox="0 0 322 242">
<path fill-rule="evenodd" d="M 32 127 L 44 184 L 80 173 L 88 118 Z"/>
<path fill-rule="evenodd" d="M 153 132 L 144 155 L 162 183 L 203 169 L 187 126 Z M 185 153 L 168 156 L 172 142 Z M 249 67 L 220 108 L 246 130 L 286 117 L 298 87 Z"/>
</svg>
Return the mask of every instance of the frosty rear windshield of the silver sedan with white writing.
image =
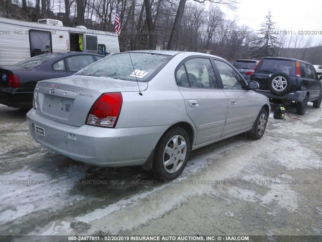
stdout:
<svg viewBox="0 0 322 242">
<path fill-rule="evenodd" d="M 148 82 L 172 57 L 164 54 L 123 52 L 105 57 L 75 75 Z"/>
</svg>

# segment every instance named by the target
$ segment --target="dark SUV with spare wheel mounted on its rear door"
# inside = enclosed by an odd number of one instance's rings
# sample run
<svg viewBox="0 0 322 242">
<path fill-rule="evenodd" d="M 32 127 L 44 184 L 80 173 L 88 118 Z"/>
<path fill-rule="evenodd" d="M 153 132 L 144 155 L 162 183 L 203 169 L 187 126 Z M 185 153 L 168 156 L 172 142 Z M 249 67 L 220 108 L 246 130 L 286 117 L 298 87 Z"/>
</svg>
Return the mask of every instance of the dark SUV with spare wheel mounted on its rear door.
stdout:
<svg viewBox="0 0 322 242">
<path fill-rule="evenodd" d="M 263 57 L 250 77 L 257 81 L 256 90 L 273 103 L 296 104 L 296 113 L 303 115 L 307 102 L 320 107 L 322 82 L 318 80 L 314 67 L 293 58 Z"/>
</svg>

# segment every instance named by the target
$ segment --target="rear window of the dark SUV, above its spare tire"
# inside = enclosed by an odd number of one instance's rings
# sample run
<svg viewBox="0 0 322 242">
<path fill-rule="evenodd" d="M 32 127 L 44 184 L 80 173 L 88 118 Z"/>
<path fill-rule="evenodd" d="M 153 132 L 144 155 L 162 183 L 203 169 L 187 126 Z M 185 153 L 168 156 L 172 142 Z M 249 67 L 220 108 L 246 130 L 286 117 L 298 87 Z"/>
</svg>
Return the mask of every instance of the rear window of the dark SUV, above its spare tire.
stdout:
<svg viewBox="0 0 322 242">
<path fill-rule="evenodd" d="M 289 76 L 295 76 L 295 62 L 279 59 L 263 59 L 256 72 L 276 73 L 284 72 Z"/>
</svg>

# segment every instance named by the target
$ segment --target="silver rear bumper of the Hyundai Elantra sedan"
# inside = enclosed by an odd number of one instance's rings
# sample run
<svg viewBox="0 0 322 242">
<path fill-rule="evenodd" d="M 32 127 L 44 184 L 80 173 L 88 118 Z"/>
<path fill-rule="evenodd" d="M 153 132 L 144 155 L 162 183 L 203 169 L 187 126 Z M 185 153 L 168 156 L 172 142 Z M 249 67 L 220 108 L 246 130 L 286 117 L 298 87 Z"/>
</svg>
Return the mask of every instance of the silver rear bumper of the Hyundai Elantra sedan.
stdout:
<svg viewBox="0 0 322 242">
<path fill-rule="evenodd" d="M 106 167 L 144 164 L 169 128 L 74 127 L 45 118 L 33 108 L 27 113 L 27 122 L 31 136 L 38 143 L 73 160 Z"/>
</svg>

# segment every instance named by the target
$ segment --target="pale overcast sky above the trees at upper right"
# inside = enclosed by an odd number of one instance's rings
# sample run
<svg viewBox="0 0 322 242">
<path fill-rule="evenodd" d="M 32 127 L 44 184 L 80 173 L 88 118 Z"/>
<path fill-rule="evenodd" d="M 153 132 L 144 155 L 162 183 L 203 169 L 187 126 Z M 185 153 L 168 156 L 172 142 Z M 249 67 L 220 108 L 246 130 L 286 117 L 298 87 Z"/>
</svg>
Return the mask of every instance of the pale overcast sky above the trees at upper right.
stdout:
<svg viewBox="0 0 322 242">
<path fill-rule="evenodd" d="M 322 45 L 322 1 L 305 0 L 237 0 L 237 10 L 232 11 L 221 6 L 228 19 L 238 18 L 238 25 L 247 25 L 259 30 L 271 10 L 272 20 L 277 30 L 292 31 L 293 35 L 304 35 L 304 40 L 311 36 L 310 46 Z M 306 32 L 305 32 L 306 31 Z M 307 34 L 314 31 L 315 34 Z M 294 36 L 295 37 L 295 36 Z"/>
</svg>

